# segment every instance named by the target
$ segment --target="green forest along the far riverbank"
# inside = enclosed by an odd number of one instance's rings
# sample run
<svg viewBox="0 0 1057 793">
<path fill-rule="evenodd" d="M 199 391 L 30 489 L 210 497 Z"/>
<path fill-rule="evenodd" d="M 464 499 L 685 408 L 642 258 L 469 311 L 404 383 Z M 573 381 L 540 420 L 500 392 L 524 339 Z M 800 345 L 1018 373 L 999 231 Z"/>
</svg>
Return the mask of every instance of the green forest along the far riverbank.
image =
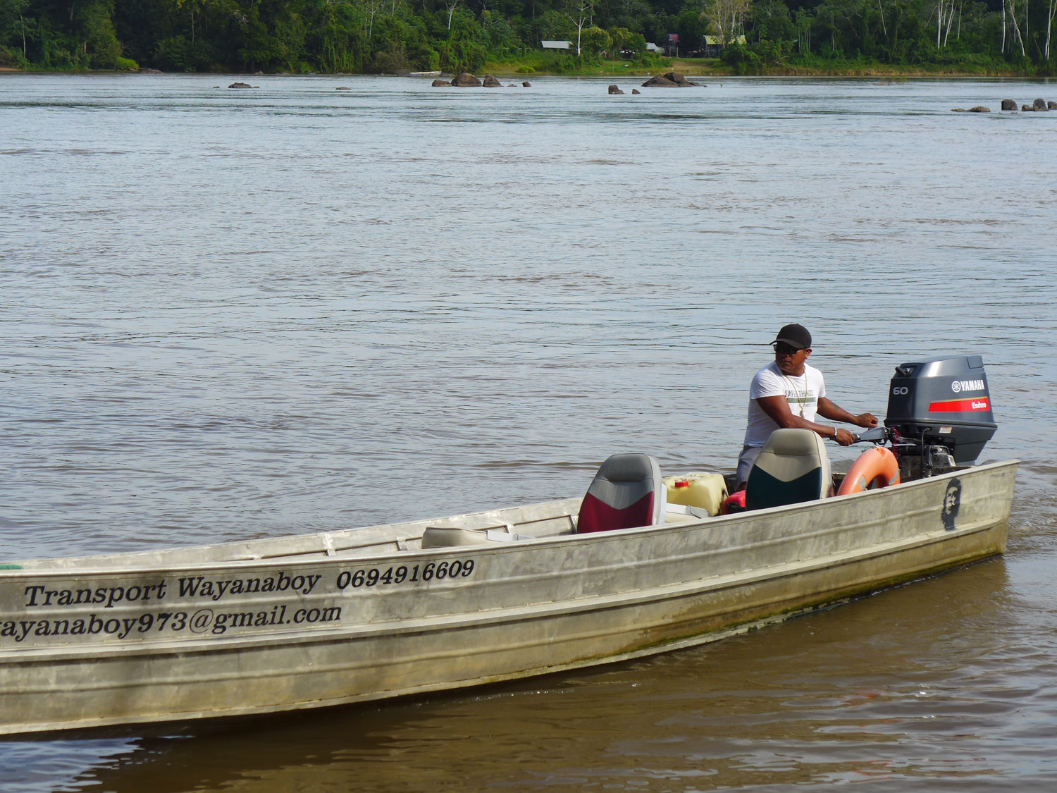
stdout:
<svg viewBox="0 0 1057 793">
<path fill-rule="evenodd" d="M 1057 0 L 0 0 L 0 67 L 562 74 L 662 67 L 647 43 L 674 34 L 671 54 L 703 56 L 708 36 L 719 60 L 707 62 L 737 74 L 1046 75 L 1055 11 Z M 572 43 L 544 51 L 545 39 Z"/>
</svg>

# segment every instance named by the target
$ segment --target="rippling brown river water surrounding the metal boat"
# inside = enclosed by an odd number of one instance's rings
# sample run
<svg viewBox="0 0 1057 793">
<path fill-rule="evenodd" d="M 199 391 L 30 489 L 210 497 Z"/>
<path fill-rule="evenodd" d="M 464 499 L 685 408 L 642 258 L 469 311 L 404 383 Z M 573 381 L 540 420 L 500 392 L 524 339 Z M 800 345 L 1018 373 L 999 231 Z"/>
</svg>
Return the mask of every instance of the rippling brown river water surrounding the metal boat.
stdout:
<svg viewBox="0 0 1057 793">
<path fill-rule="evenodd" d="M 1007 553 L 635 663 L 7 740 L 0 788 L 1057 787 L 1057 113 L 950 112 L 1057 84 L 233 79 L 0 75 L 4 559 L 729 469 L 793 320 L 855 412 L 983 356 Z"/>
</svg>

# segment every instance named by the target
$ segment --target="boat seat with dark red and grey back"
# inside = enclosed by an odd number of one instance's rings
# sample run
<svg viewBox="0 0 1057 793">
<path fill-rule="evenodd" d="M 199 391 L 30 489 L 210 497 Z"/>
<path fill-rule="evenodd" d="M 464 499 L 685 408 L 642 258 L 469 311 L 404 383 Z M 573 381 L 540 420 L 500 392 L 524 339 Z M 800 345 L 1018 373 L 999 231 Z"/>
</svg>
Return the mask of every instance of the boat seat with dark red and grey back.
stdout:
<svg viewBox="0 0 1057 793">
<path fill-rule="evenodd" d="M 664 522 L 666 488 L 661 466 L 649 455 L 613 455 L 588 487 L 578 534 L 632 529 Z"/>
</svg>

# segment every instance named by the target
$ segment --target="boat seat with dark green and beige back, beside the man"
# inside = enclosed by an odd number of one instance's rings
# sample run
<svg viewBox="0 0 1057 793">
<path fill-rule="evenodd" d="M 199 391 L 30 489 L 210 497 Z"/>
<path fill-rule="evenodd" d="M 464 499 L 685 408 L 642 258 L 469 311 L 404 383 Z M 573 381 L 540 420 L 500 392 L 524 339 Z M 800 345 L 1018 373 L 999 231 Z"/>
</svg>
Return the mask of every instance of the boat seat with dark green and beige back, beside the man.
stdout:
<svg viewBox="0 0 1057 793">
<path fill-rule="evenodd" d="M 745 509 L 764 510 L 830 495 L 830 459 L 818 434 L 783 427 L 771 434 L 748 472 Z"/>
</svg>

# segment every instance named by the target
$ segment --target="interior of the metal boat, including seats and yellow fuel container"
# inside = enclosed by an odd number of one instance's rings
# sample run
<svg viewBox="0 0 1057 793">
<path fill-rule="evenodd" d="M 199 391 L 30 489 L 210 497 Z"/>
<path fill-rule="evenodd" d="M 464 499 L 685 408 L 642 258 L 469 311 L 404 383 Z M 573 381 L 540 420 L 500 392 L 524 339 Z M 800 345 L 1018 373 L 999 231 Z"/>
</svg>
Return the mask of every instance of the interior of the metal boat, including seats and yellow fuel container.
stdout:
<svg viewBox="0 0 1057 793">
<path fill-rule="evenodd" d="M 704 520 L 833 495 L 846 476 L 834 473 L 818 436 L 790 430 L 768 442 L 746 488 L 734 494 L 733 474 L 693 472 L 663 477 L 645 454 L 614 455 L 582 497 L 336 532 L 261 538 L 206 547 L 115 555 L 30 559 L 6 569 L 156 569 L 210 564 L 358 558 L 463 546 L 492 546 L 617 529 Z M 895 481 L 898 481 L 896 477 Z M 894 482 L 892 482 L 894 483 Z M 866 487 L 863 487 L 864 490 Z M 747 504 L 741 497 L 747 499 Z M 744 505 L 743 505 L 744 504 Z"/>
</svg>

